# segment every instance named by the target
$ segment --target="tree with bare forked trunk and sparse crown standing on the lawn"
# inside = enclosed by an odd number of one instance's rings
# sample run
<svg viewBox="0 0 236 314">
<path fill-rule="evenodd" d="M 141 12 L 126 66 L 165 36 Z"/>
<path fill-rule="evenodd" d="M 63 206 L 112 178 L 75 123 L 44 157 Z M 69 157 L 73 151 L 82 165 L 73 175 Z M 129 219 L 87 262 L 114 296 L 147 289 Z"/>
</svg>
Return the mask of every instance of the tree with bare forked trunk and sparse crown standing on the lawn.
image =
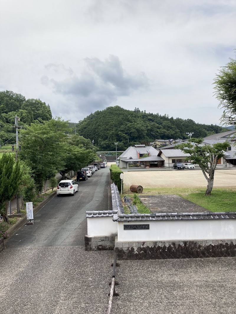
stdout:
<svg viewBox="0 0 236 314">
<path fill-rule="evenodd" d="M 217 161 L 224 156 L 224 150 L 229 146 L 229 143 L 205 145 L 202 142 L 203 139 L 201 138 L 191 138 L 187 143 L 176 145 L 176 148 L 181 149 L 185 154 L 190 154 L 191 162 L 200 166 L 207 180 L 205 195 L 211 195 Z M 189 157 L 186 158 L 186 160 L 188 159 Z"/>
</svg>

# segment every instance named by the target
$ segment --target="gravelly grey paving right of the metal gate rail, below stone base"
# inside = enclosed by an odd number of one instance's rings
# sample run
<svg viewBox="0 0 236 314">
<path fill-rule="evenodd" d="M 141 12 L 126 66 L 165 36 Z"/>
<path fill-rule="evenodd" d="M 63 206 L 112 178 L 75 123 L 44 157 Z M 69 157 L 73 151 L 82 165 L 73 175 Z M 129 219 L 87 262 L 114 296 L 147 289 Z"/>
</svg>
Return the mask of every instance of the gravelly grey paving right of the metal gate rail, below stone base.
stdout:
<svg viewBox="0 0 236 314">
<path fill-rule="evenodd" d="M 236 258 L 119 263 L 114 314 L 236 313 Z"/>
</svg>

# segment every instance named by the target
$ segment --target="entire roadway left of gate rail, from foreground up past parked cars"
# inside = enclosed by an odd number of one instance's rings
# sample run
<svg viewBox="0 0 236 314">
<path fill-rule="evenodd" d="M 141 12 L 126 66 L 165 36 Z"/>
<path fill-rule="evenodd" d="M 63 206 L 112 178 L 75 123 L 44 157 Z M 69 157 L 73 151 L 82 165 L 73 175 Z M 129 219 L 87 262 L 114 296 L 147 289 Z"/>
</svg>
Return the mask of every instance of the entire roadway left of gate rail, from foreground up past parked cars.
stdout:
<svg viewBox="0 0 236 314">
<path fill-rule="evenodd" d="M 108 209 L 109 168 L 55 196 L 0 254 L 0 313 L 104 313 L 112 251 L 85 252 L 86 210 Z"/>
</svg>

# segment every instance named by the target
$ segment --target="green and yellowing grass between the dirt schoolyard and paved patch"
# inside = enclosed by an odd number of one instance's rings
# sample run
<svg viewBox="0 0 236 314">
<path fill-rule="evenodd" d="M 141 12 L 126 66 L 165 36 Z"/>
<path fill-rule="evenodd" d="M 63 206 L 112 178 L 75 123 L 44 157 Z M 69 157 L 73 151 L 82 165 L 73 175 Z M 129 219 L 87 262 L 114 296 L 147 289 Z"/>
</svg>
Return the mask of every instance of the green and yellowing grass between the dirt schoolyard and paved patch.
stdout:
<svg viewBox="0 0 236 314">
<path fill-rule="evenodd" d="M 206 188 L 144 188 L 142 194 L 155 195 L 155 194 L 176 194 L 188 201 L 202 206 L 212 212 L 234 212 L 236 211 L 236 188 L 235 189 L 220 189 L 212 190 L 211 196 L 205 196 Z M 127 193 L 126 193 L 127 194 Z M 127 194 L 133 197 L 133 193 Z M 124 196 L 124 195 L 123 195 Z M 122 197 L 122 196 L 121 196 Z"/>
</svg>

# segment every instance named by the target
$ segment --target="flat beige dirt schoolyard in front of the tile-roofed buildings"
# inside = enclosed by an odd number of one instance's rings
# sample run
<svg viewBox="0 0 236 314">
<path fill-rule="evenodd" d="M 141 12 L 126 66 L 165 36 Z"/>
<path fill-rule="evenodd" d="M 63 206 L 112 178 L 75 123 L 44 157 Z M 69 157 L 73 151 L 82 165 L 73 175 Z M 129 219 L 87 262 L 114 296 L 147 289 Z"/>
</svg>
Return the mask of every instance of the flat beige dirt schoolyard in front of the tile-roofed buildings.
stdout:
<svg viewBox="0 0 236 314">
<path fill-rule="evenodd" d="M 201 170 L 125 171 L 124 184 L 142 187 L 206 187 Z M 236 169 L 217 169 L 214 187 L 236 187 Z"/>
</svg>

